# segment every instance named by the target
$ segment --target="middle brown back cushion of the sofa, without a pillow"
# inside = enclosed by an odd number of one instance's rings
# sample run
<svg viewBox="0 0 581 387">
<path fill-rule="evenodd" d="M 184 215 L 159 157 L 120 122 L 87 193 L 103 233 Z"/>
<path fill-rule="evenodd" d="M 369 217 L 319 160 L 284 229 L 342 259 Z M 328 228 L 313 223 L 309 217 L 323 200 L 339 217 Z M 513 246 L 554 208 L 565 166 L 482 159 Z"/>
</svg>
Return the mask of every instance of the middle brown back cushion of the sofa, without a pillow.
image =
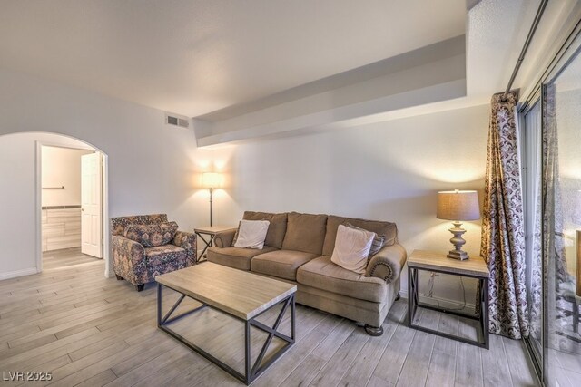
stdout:
<svg viewBox="0 0 581 387">
<path fill-rule="evenodd" d="M 320 255 L 327 229 L 327 215 L 291 212 L 288 218 L 282 248 Z"/>
</svg>

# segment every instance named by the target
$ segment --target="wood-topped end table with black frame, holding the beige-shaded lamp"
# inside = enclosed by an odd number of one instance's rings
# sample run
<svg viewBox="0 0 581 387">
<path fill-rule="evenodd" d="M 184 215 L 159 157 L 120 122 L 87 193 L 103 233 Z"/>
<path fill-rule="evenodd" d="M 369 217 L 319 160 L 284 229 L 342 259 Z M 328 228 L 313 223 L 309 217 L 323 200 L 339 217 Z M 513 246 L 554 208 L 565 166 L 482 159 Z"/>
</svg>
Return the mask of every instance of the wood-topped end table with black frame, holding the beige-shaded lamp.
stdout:
<svg viewBox="0 0 581 387">
<path fill-rule="evenodd" d="M 470 257 L 465 261 L 448 258 L 448 256 L 432 251 L 414 250 L 409 256 L 408 261 L 408 324 L 409 327 L 418 329 L 420 331 L 428 332 L 430 334 L 438 334 L 439 336 L 448 337 L 449 339 L 458 340 L 462 343 L 469 343 L 478 347 L 488 349 L 490 344 L 488 333 L 488 278 L 490 272 L 484 259 L 480 256 Z M 445 308 L 437 307 L 435 305 L 422 304 L 419 302 L 419 270 L 426 270 L 436 273 L 444 273 L 451 276 L 468 276 L 470 278 L 478 279 L 480 285 L 480 314 L 478 316 L 470 314 L 462 314 L 451 311 Z M 460 317 L 465 317 L 473 320 L 478 320 L 480 327 L 481 340 L 470 340 L 465 337 L 460 337 L 454 334 L 447 334 L 439 332 L 434 329 L 426 328 L 418 324 L 414 324 L 414 316 L 418 307 L 444 312 L 446 314 L 454 314 Z"/>
</svg>

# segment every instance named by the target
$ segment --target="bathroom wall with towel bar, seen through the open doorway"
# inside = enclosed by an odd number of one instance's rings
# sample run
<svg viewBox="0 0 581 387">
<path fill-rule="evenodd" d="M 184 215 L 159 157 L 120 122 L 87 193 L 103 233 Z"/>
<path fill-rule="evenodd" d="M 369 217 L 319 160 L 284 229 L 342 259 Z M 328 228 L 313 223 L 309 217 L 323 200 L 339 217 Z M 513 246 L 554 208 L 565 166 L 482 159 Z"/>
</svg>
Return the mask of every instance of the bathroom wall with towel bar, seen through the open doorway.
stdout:
<svg viewBox="0 0 581 387">
<path fill-rule="evenodd" d="M 81 156 L 88 153 L 91 150 L 43 146 L 43 207 L 81 204 Z"/>
</svg>

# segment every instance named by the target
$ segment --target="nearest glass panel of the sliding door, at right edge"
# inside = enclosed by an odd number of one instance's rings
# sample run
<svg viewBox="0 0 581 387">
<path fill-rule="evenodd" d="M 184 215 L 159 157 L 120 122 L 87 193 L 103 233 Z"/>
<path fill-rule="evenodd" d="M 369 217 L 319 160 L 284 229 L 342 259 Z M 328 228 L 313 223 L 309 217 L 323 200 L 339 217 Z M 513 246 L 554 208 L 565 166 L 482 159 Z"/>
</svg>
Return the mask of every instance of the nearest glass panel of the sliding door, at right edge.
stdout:
<svg viewBox="0 0 581 387">
<path fill-rule="evenodd" d="M 577 44 L 578 46 L 578 44 Z M 581 385 L 581 56 L 543 85 L 545 373 L 549 386 Z"/>
</svg>

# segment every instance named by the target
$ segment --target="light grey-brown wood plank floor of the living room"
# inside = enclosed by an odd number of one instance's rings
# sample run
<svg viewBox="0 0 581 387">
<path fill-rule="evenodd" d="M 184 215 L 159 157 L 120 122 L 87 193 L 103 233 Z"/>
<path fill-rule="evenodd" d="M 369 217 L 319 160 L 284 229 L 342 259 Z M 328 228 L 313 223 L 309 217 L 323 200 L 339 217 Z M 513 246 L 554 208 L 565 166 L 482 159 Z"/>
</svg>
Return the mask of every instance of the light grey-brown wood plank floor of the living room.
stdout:
<svg viewBox="0 0 581 387">
<path fill-rule="evenodd" d="M 242 385 L 156 328 L 153 285 L 138 293 L 125 281 L 104 278 L 102 260 L 77 257 L 75 263 L 66 256 L 65 266 L 45 263 L 40 275 L 0 282 L 0 371 L 5 379 L 18 371 L 53 376 L 51 382 L 0 384 Z M 164 305 L 176 298 L 166 292 Z M 495 335 L 489 351 L 457 343 L 408 328 L 406 311 L 406 300 L 397 302 L 385 333 L 370 337 L 348 320 L 298 305 L 297 343 L 252 385 L 538 385 L 523 343 Z M 264 318 L 271 321 L 276 312 Z M 429 311 L 419 318 L 462 329 Z M 224 361 L 241 361 L 241 331 L 233 320 L 205 309 L 176 324 Z M 289 320 L 282 325 L 288 329 Z M 253 353 L 257 347 L 253 343 Z"/>
</svg>

